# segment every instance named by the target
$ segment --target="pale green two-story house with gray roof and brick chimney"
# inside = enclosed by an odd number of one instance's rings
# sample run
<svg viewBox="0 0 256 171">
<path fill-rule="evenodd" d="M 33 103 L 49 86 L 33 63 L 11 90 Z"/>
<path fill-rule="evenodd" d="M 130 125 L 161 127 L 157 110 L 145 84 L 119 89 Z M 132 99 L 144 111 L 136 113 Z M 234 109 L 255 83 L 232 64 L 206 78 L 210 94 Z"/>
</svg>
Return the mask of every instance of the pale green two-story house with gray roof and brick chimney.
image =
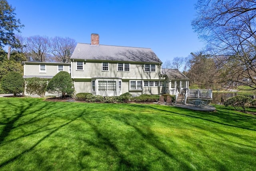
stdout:
<svg viewBox="0 0 256 171">
<path fill-rule="evenodd" d="M 181 93 L 189 79 L 162 62 L 150 48 L 101 45 L 98 34 L 91 43 L 78 43 L 70 63 L 23 62 L 24 78 L 52 78 L 60 70 L 70 72 L 75 93 L 118 96 Z M 47 94 L 46 94 L 47 95 Z"/>
</svg>

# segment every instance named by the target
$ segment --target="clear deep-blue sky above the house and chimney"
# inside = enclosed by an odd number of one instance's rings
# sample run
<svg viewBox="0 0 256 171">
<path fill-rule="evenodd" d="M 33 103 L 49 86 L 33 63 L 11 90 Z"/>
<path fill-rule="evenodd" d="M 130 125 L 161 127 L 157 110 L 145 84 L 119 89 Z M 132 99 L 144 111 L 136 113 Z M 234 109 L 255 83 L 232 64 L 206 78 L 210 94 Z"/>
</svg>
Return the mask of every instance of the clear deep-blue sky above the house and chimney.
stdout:
<svg viewBox="0 0 256 171">
<path fill-rule="evenodd" d="M 24 37 L 62 36 L 90 43 L 151 48 L 165 62 L 202 50 L 194 33 L 197 0 L 8 0 Z"/>
</svg>

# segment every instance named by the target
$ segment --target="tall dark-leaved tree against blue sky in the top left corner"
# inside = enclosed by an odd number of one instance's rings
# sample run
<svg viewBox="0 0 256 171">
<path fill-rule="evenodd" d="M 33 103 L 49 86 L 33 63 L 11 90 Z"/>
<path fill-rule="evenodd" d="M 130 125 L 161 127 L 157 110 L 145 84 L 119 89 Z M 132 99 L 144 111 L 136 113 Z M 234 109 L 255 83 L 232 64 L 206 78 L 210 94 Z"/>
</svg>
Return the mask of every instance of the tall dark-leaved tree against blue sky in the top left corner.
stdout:
<svg viewBox="0 0 256 171">
<path fill-rule="evenodd" d="M 9 45 L 11 47 L 19 46 L 14 32 L 20 32 L 24 25 L 15 18 L 15 8 L 8 4 L 7 0 L 0 0 L 0 46 Z"/>
</svg>

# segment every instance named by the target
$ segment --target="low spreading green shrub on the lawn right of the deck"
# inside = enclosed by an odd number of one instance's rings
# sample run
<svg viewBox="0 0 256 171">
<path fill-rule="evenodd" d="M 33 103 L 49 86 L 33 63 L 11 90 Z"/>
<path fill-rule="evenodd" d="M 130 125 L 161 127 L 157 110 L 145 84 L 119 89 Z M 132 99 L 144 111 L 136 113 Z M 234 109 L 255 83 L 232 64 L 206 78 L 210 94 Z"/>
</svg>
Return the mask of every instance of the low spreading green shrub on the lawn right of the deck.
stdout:
<svg viewBox="0 0 256 171">
<path fill-rule="evenodd" d="M 246 111 L 244 105 L 246 105 L 246 103 L 250 103 L 251 100 L 252 100 L 251 97 L 248 97 L 245 95 L 236 95 L 234 97 L 229 97 L 224 102 L 224 105 L 225 106 L 231 105 L 236 110 Z"/>
</svg>

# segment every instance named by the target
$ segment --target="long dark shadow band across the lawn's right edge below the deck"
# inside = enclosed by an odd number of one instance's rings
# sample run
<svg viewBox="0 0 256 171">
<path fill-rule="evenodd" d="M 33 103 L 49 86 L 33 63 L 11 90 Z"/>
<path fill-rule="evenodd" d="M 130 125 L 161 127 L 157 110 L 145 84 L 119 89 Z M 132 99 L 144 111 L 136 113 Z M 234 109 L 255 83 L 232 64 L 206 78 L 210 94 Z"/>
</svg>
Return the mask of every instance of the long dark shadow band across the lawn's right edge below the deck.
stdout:
<svg viewBox="0 0 256 171">
<path fill-rule="evenodd" d="M 242 129 L 247 129 L 251 131 L 256 131 L 256 129 L 250 128 L 255 126 L 255 121 L 256 117 L 254 116 L 249 116 L 249 115 L 244 115 L 243 113 L 241 114 L 236 114 L 232 113 L 230 111 L 225 113 L 225 115 L 222 111 L 216 111 L 216 112 L 204 112 L 204 111 L 191 111 L 190 109 L 184 109 L 182 108 L 182 111 L 184 113 L 178 113 L 176 111 L 172 111 L 172 108 L 180 109 L 180 107 L 174 107 L 174 106 L 164 106 L 166 109 L 163 109 L 163 107 L 153 107 L 153 105 L 144 105 L 144 104 L 122 104 L 124 106 L 127 106 L 126 108 L 130 109 L 131 111 L 135 112 L 132 107 L 137 107 L 137 108 L 142 108 L 142 109 L 153 109 L 157 111 L 163 111 L 164 113 L 148 113 L 148 114 L 156 114 L 156 115 L 180 115 L 184 117 L 191 117 L 191 118 L 196 118 L 196 119 L 202 119 L 206 121 L 210 121 L 213 123 L 218 123 L 221 125 L 226 125 L 226 126 L 231 126 L 231 127 L 237 127 L 237 128 L 242 128 Z M 129 106 L 132 106 L 129 108 Z M 170 110 L 168 110 L 170 109 Z M 189 113 L 196 113 L 196 115 L 189 114 Z M 244 123 L 243 125 L 238 125 Z"/>
</svg>

